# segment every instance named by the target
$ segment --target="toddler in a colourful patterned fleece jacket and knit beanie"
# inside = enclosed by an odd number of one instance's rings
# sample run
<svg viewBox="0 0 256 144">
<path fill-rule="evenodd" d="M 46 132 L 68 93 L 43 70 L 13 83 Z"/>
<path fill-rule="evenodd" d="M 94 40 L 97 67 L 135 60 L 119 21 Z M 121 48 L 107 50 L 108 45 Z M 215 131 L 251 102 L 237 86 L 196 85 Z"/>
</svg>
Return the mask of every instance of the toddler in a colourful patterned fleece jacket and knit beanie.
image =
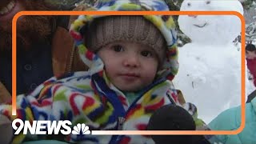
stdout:
<svg viewBox="0 0 256 144">
<path fill-rule="evenodd" d="M 105 0 L 90 10 L 169 9 L 160 0 Z M 72 126 L 85 123 L 90 130 L 146 130 L 155 110 L 181 106 L 171 82 L 178 72 L 171 16 L 81 15 L 70 26 L 70 34 L 90 70 L 50 78 L 17 97 L 16 116 L 11 116 L 10 105 L 0 106 L 0 114 L 10 120 L 70 120 Z M 12 142 L 42 137 L 19 134 Z M 65 141 L 153 143 L 143 135 L 69 134 Z"/>
</svg>

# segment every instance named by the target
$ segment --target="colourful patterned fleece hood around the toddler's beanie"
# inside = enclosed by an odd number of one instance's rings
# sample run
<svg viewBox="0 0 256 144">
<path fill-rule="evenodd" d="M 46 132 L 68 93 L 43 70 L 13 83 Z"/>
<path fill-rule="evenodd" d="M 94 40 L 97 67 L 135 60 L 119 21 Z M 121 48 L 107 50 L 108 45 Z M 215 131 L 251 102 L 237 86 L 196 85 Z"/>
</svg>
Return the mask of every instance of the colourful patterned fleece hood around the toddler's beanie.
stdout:
<svg viewBox="0 0 256 144">
<path fill-rule="evenodd" d="M 91 6 L 90 11 L 168 11 L 169 8 L 162 0 L 101 0 L 94 6 Z M 70 26 L 70 34 L 74 38 L 75 45 L 79 49 L 82 61 L 90 67 L 93 73 L 103 70 L 103 62 L 90 50 L 87 50 L 83 39 L 83 27 L 95 18 L 104 17 L 107 15 L 80 15 Z M 154 26 L 160 30 L 163 37 L 166 39 L 166 60 L 163 62 L 163 67 L 158 70 L 158 78 L 167 78 L 172 80 L 178 72 L 178 49 L 176 46 L 177 34 L 175 30 L 174 20 L 169 15 L 143 15 L 142 17 L 152 22 Z"/>
</svg>

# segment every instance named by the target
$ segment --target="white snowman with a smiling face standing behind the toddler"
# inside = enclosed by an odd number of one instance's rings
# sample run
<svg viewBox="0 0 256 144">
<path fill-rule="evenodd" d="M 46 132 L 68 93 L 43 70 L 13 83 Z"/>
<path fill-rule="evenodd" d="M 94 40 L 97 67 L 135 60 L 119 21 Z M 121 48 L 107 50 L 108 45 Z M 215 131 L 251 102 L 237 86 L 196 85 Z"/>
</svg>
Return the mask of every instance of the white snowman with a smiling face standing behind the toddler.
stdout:
<svg viewBox="0 0 256 144">
<path fill-rule="evenodd" d="M 199 10 L 243 14 L 238 0 L 182 2 L 181 11 Z M 233 44 L 241 21 L 235 15 L 180 15 L 178 25 L 192 42 L 179 48 L 174 86 L 182 90 L 187 102 L 198 106 L 199 118 L 207 123 L 223 110 L 241 105 L 241 51 Z"/>
</svg>

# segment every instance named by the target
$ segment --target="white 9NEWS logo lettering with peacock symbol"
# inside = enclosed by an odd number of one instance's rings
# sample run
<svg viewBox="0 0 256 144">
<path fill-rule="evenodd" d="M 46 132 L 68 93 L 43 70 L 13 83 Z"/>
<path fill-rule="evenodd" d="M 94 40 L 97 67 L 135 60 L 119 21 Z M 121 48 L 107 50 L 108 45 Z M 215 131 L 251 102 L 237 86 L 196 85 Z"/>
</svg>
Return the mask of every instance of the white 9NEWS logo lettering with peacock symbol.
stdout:
<svg viewBox="0 0 256 144">
<path fill-rule="evenodd" d="M 86 126 L 84 123 L 78 123 L 73 127 L 73 130 L 70 126 L 72 123 L 68 120 L 65 121 L 33 121 L 30 124 L 29 121 L 23 122 L 22 119 L 16 118 L 11 123 L 11 126 L 15 130 L 14 134 L 20 134 L 23 130 L 23 134 L 27 134 L 30 131 L 30 134 L 90 134 L 89 126 Z"/>
</svg>

